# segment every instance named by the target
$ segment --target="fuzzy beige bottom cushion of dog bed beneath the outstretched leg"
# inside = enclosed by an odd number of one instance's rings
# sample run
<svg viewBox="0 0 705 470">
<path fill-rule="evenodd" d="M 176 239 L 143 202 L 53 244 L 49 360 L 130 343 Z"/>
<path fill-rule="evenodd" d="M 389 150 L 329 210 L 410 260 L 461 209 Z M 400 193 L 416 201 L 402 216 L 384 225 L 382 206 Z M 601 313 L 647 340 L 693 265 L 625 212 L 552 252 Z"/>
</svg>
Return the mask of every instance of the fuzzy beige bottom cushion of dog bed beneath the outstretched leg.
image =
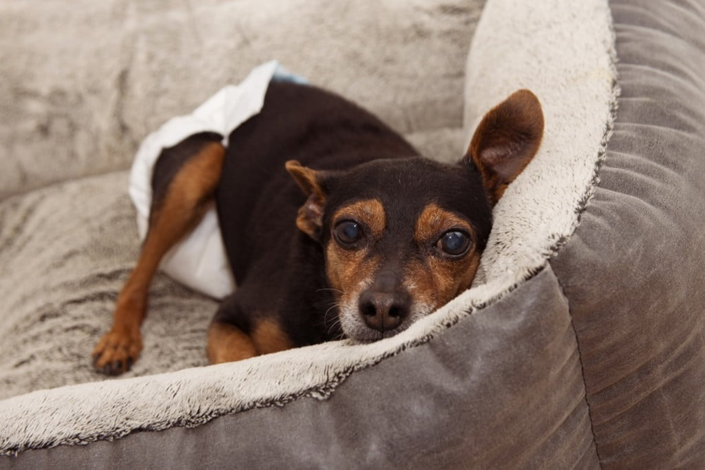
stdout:
<svg viewBox="0 0 705 470">
<path fill-rule="evenodd" d="M 139 241 L 120 171 L 0 202 L 0 399 L 103 380 L 90 354 L 111 321 Z M 159 275 L 131 375 L 207 364 L 216 303 Z"/>
</svg>

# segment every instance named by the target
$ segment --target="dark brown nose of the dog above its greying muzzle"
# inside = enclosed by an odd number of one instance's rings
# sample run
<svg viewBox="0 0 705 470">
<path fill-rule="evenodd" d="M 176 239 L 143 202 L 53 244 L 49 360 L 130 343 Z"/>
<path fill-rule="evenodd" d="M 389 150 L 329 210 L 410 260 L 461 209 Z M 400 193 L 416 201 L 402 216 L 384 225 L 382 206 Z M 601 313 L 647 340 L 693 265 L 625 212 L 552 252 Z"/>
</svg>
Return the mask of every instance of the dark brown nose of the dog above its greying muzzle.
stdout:
<svg viewBox="0 0 705 470">
<path fill-rule="evenodd" d="M 374 330 L 386 332 L 401 325 L 409 315 L 411 299 L 401 291 L 364 291 L 360 295 L 360 315 Z"/>
</svg>

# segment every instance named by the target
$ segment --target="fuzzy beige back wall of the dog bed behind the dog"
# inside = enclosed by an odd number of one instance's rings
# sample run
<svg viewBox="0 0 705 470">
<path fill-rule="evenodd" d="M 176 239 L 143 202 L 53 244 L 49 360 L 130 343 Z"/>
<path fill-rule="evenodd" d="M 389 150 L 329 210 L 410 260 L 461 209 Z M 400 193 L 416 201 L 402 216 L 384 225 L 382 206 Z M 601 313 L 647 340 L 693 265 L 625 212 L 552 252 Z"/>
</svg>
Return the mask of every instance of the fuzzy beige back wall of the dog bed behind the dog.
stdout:
<svg viewBox="0 0 705 470">
<path fill-rule="evenodd" d="M 459 127 L 482 4 L 1 2 L 0 199 L 125 169 L 147 133 L 269 59 L 401 132 Z"/>
</svg>

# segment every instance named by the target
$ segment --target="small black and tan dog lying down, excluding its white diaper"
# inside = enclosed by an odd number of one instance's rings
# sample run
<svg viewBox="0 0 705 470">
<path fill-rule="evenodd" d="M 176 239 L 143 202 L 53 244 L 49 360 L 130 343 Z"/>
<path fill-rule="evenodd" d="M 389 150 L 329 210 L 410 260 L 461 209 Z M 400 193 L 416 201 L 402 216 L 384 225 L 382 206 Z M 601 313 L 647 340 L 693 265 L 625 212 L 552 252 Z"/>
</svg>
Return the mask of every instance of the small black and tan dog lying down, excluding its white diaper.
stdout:
<svg viewBox="0 0 705 470">
<path fill-rule="evenodd" d="M 94 366 L 119 374 L 137 359 L 159 261 L 213 201 L 238 288 L 209 327 L 212 363 L 396 335 L 470 287 L 492 207 L 543 131 L 539 101 L 520 90 L 460 162 L 441 164 L 341 97 L 271 83 L 227 149 L 201 133 L 161 153 L 149 232 Z"/>
</svg>

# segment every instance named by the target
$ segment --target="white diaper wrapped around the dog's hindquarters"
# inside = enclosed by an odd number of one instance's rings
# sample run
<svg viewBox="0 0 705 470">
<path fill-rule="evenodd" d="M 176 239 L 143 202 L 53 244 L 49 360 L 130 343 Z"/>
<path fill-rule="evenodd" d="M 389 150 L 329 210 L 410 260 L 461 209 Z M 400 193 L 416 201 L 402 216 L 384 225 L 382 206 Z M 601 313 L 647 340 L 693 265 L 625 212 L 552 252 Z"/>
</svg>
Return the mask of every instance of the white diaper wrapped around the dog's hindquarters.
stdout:
<svg viewBox="0 0 705 470">
<path fill-rule="evenodd" d="M 276 61 L 266 62 L 252 70 L 240 85 L 222 88 L 192 114 L 170 119 L 159 131 L 147 135 L 142 141 L 130 173 L 130 198 L 137 209 L 140 240 L 143 241 L 147 235 L 152 204 L 152 171 L 161 150 L 202 132 L 223 135 L 223 145 L 227 147 L 230 133 L 262 110 L 264 95 L 273 79 L 305 83 Z M 216 299 L 222 299 L 235 290 L 235 280 L 228 265 L 214 208 L 208 210 L 190 235 L 166 253 L 160 267 L 181 284 Z"/>
</svg>

